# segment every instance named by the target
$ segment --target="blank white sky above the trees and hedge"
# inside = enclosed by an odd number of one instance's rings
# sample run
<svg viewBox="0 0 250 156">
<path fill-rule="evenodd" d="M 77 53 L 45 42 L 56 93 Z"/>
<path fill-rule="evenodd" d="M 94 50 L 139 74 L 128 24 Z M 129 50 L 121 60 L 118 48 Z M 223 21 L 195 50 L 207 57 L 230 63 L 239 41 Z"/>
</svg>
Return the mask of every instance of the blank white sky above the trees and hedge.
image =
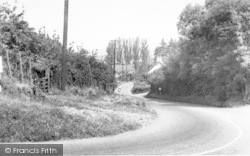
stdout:
<svg viewBox="0 0 250 156">
<path fill-rule="evenodd" d="M 4 0 L 0 0 L 4 1 Z M 7 0 L 5 0 L 7 1 Z M 68 44 L 106 54 L 110 40 L 147 39 L 151 52 L 162 39 L 178 38 L 177 22 L 189 3 L 205 0 L 69 0 Z M 24 20 L 63 38 L 64 0 L 8 0 L 25 10 Z"/>
</svg>

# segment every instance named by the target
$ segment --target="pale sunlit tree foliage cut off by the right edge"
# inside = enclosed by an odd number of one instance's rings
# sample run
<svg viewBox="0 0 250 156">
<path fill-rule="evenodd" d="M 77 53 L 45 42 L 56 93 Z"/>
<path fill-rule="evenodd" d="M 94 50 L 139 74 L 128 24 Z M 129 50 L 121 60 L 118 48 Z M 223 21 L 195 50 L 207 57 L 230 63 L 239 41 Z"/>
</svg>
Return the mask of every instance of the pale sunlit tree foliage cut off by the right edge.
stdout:
<svg viewBox="0 0 250 156">
<path fill-rule="evenodd" d="M 242 72 L 238 73 L 234 78 L 245 84 L 244 100 L 250 101 L 250 2 L 238 0 L 232 7 L 232 18 L 236 27 L 238 36 L 238 46 L 235 50 L 237 59 L 240 62 Z"/>
</svg>

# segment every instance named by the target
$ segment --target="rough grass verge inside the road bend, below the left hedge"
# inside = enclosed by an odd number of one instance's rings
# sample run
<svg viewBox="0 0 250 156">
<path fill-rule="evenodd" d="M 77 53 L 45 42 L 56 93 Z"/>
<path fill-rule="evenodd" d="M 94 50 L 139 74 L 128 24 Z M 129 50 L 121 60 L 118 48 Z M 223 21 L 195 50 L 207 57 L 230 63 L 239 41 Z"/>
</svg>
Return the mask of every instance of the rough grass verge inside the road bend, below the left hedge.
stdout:
<svg viewBox="0 0 250 156">
<path fill-rule="evenodd" d="M 44 102 L 0 95 L 0 142 L 36 142 L 114 135 L 146 125 L 156 114 L 120 95 L 53 94 Z"/>
</svg>

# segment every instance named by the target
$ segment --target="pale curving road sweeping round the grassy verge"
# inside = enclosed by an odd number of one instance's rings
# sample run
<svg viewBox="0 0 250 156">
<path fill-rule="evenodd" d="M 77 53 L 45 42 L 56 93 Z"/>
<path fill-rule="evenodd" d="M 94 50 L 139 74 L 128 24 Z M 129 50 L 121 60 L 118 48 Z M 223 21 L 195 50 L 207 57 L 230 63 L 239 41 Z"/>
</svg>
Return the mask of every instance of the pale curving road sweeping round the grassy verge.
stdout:
<svg viewBox="0 0 250 156">
<path fill-rule="evenodd" d="M 133 83 L 120 86 L 119 93 L 131 94 L 132 86 Z M 143 98 L 142 94 L 137 96 Z M 146 101 L 158 113 L 158 118 L 147 127 L 110 137 L 46 143 L 63 143 L 64 155 L 250 153 L 248 150 L 250 142 L 247 137 L 242 137 L 242 127 L 235 124 L 237 118 L 232 116 L 233 109 L 202 107 L 155 99 Z M 231 115 L 231 118 L 227 115 Z M 248 128 L 244 130 L 249 130 Z"/>
</svg>

